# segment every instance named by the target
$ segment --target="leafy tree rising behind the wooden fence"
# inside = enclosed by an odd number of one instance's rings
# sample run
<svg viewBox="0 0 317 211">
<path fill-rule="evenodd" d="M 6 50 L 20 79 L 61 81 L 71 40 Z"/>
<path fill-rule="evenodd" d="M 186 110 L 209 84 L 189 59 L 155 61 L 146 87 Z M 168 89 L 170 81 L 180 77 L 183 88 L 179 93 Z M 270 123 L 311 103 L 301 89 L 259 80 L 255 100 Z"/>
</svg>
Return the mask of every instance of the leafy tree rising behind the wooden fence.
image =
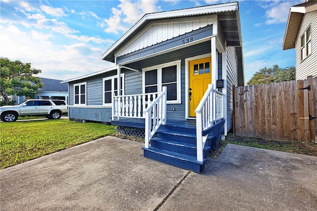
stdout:
<svg viewBox="0 0 317 211">
<path fill-rule="evenodd" d="M 277 64 L 270 68 L 264 67 L 253 74 L 253 77 L 247 82 L 253 84 L 270 84 L 283 81 L 295 80 L 296 69 L 294 66 L 280 68 Z"/>
</svg>

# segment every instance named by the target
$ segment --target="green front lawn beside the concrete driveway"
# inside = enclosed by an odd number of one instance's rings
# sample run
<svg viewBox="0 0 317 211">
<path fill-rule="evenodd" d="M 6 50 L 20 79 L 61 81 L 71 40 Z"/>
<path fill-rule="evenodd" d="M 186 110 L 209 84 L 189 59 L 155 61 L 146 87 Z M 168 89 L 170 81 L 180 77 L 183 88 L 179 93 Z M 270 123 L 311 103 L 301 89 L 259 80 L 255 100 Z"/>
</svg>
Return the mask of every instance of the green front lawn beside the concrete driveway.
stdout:
<svg viewBox="0 0 317 211">
<path fill-rule="evenodd" d="M 0 123 L 0 169 L 115 134 L 115 126 L 68 119 Z"/>
</svg>

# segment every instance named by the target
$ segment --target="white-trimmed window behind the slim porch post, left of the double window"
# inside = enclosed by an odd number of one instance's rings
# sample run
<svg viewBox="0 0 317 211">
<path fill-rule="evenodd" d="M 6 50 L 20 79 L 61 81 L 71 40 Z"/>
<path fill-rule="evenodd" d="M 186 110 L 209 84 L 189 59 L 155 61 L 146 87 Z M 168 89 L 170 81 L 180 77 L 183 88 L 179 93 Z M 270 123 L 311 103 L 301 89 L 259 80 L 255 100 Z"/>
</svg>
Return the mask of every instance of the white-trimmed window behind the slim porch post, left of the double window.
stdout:
<svg viewBox="0 0 317 211">
<path fill-rule="evenodd" d="M 118 95 L 118 76 L 110 76 L 103 79 L 104 84 L 104 105 L 111 106 L 112 93 Z M 124 95 L 124 73 L 121 74 L 121 95 Z"/>
</svg>

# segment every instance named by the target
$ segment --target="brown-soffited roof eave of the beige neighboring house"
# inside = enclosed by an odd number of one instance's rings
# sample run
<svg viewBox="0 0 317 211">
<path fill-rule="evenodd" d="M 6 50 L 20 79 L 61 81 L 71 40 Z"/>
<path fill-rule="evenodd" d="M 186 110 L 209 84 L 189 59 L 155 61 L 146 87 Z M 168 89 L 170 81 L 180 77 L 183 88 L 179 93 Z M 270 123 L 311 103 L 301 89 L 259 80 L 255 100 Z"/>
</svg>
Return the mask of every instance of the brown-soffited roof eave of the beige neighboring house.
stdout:
<svg viewBox="0 0 317 211">
<path fill-rule="evenodd" d="M 305 13 L 317 10 L 316 0 L 307 0 L 304 3 L 291 6 L 289 10 L 286 31 L 283 41 L 283 50 L 294 49 L 295 41 Z"/>
</svg>

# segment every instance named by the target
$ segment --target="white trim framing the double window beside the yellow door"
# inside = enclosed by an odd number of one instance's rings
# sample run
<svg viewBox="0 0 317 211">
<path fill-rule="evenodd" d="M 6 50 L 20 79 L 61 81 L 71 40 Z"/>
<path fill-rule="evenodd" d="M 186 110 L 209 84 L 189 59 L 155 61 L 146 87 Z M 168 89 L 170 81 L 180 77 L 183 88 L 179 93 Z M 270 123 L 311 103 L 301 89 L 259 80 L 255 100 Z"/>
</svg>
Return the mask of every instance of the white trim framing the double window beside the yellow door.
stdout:
<svg viewBox="0 0 317 211">
<path fill-rule="evenodd" d="M 167 101 L 167 104 L 181 104 L 181 59 L 171 61 L 151 67 L 142 69 L 142 93 L 145 94 L 145 72 L 157 69 L 158 70 L 158 92 L 162 91 L 162 68 L 176 65 L 176 86 L 177 86 L 177 99 L 174 101 Z"/>
</svg>

